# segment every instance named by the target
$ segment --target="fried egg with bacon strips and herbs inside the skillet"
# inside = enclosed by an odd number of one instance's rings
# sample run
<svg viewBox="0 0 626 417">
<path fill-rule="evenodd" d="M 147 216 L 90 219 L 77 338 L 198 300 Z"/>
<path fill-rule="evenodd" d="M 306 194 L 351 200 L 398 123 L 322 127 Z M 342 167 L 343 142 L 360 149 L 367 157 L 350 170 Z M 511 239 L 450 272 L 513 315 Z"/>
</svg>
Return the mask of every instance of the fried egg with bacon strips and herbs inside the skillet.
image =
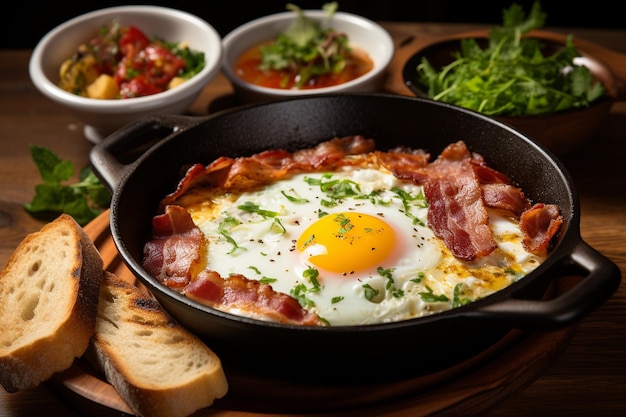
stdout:
<svg viewBox="0 0 626 417">
<path fill-rule="evenodd" d="M 162 200 L 143 266 L 216 309 L 340 326 L 459 307 L 543 262 L 557 206 L 463 142 L 429 159 L 349 136 L 195 164 Z"/>
</svg>

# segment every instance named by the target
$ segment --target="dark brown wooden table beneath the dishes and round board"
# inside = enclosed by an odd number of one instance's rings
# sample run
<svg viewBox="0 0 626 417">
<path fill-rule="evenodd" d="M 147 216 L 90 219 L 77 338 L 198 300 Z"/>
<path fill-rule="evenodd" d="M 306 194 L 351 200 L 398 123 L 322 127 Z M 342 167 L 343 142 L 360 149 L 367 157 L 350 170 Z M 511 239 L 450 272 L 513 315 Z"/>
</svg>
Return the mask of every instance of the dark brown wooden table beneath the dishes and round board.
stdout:
<svg viewBox="0 0 626 417">
<path fill-rule="evenodd" d="M 403 42 L 480 27 L 452 24 L 383 23 L 399 49 L 391 72 L 402 66 Z M 626 53 L 626 31 L 552 28 Z M 45 146 L 78 168 L 87 163 L 92 144 L 82 125 L 43 97 L 28 76 L 29 50 L 0 51 L 0 265 L 17 244 L 43 223 L 23 204 L 33 196 L 39 173 L 29 145 Z M 206 114 L 232 103 L 222 74 L 207 85 L 191 109 Z M 582 235 L 591 246 L 626 272 L 626 104 L 616 103 L 593 140 L 560 158 L 580 192 Z M 0 389 L 0 417 L 77 416 L 47 385 L 8 394 Z M 254 414 L 250 414 L 253 416 Z M 508 396 L 489 416 L 623 416 L 626 415 L 626 283 L 603 306 L 586 317 L 565 352 L 530 386 Z"/>
</svg>

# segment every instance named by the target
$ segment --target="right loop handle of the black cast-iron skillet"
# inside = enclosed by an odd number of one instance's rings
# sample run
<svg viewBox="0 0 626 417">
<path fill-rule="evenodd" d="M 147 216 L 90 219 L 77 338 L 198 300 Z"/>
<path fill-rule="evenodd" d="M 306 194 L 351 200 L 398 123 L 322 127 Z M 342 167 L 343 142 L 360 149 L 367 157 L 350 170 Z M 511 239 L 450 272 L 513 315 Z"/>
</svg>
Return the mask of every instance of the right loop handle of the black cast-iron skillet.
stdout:
<svg viewBox="0 0 626 417">
<path fill-rule="evenodd" d="M 569 257 L 546 271 L 554 279 L 580 276 L 582 280 L 564 294 L 550 300 L 509 298 L 479 307 L 481 318 L 506 322 L 513 327 L 545 330 L 572 325 L 606 301 L 619 287 L 621 271 L 615 263 L 579 242 Z"/>
</svg>

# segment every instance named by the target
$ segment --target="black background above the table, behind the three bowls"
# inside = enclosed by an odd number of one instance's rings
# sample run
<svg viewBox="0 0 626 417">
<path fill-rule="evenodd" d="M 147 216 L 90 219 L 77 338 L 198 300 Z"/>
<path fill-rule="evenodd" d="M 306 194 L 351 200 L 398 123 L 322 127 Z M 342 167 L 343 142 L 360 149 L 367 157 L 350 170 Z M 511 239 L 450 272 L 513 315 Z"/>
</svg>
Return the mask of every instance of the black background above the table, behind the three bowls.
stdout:
<svg viewBox="0 0 626 417">
<path fill-rule="evenodd" d="M 502 10 L 516 2 L 529 11 L 534 0 L 338 0 L 339 10 L 378 21 L 457 22 L 497 25 Z M 209 22 L 223 37 L 236 26 L 271 13 L 285 11 L 289 0 L 234 1 L 156 1 L 151 4 L 181 9 Z M 303 9 L 319 9 L 327 1 L 291 0 Z M 33 48 L 56 25 L 80 14 L 103 7 L 119 6 L 119 1 L 70 2 L 4 1 L 0 9 L 0 48 Z M 575 6 L 577 4 L 577 6 Z M 546 27 L 626 29 L 626 15 L 616 10 L 615 0 L 543 0 Z M 582 6 L 581 6 L 582 5 Z"/>
</svg>

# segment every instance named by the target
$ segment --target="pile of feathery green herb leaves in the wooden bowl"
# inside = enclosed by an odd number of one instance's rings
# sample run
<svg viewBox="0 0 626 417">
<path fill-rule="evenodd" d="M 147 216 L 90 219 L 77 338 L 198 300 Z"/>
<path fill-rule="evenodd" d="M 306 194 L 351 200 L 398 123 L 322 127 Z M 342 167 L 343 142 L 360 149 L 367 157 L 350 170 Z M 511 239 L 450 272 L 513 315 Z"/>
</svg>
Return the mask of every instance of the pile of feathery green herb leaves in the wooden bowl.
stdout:
<svg viewBox="0 0 626 417">
<path fill-rule="evenodd" d="M 546 56 L 541 41 L 523 37 L 544 25 L 537 1 L 528 16 L 518 4 L 503 11 L 503 25 L 489 32 L 488 45 L 462 39 L 454 61 L 435 69 L 423 58 L 419 82 L 428 97 L 491 116 L 524 116 L 587 107 L 604 94 L 567 37 L 564 48 Z"/>
</svg>

